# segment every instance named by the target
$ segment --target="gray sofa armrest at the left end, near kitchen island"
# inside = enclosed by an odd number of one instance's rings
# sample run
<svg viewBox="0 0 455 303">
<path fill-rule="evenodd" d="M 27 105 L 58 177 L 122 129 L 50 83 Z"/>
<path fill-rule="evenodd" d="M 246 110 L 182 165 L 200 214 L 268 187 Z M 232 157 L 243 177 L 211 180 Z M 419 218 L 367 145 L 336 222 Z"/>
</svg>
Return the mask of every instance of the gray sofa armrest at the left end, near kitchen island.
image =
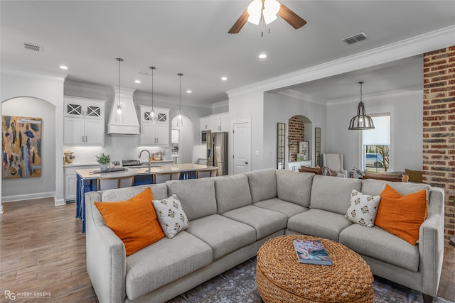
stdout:
<svg viewBox="0 0 455 303">
<path fill-rule="evenodd" d="M 85 194 L 87 272 L 97 297 L 103 302 L 124 302 L 126 251 L 122 240 L 102 221 L 93 202 L 97 192 Z"/>
</svg>

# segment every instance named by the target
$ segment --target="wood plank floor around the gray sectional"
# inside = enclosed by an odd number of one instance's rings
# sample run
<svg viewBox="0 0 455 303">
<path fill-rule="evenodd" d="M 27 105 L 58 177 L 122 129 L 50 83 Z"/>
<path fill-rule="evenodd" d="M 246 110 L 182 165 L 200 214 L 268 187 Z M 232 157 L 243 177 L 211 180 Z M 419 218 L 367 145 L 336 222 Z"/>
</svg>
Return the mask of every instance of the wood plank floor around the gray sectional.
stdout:
<svg viewBox="0 0 455 303">
<path fill-rule="evenodd" d="M 0 215 L 0 302 L 98 302 L 85 268 L 85 234 L 75 204 L 4 203 Z M 37 297 L 36 292 L 43 297 Z M 45 297 L 47 296 L 47 297 Z M 444 250 L 439 297 L 455 302 L 455 247 Z"/>
</svg>

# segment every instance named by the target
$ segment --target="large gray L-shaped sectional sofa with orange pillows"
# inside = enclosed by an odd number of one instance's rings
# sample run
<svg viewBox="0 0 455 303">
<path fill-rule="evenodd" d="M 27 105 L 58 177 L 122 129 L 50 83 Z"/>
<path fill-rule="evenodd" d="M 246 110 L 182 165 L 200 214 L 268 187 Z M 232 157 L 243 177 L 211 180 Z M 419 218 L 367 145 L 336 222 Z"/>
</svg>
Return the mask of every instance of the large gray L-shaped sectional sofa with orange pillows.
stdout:
<svg viewBox="0 0 455 303">
<path fill-rule="evenodd" d="M 416 246 L 344 217 L 353 189 L 380 194 L 385 183 L 266 169 L 87 192 L 87 272 L 100 302 L 165 302 L 254 257 L 269 238 L 303 233 L 343 243 L 373 274 L 436 296 L 444 252 L 441 189 L 390 183 L 402 194 L 429 190 L 428 216 Z M 191 226 L 126 258 L 122 241 L 93 202 L 123 201 L 147 186 L 155 199 L 177 194 Z"/>
</svg>

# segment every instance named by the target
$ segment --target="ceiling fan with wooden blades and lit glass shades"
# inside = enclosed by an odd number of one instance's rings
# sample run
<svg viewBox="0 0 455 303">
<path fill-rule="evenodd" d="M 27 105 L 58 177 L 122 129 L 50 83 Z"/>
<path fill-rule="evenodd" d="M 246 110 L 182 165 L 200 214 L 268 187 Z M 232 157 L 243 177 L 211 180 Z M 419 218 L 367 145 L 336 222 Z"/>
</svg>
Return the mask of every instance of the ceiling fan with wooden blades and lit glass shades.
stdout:
<svg viewBox="0 0 455 303">
<path fill-rule="evenodd" d="M 263 18 L 264 22 L 269 24 L 277 19 L 277 15 L 282 17 L 284 21 L 295 29 L 301 28 L 306 24 L 304 19 L 300 18 L 294 11 L 291 11 L 287 6 L 284 6 L 284 4 L 277 0 L 253 0 L 237 21 L 235 21 L 228 33 L 239 33 L 247 21 L 258 25 L 261 18 Z"/>
</svg>

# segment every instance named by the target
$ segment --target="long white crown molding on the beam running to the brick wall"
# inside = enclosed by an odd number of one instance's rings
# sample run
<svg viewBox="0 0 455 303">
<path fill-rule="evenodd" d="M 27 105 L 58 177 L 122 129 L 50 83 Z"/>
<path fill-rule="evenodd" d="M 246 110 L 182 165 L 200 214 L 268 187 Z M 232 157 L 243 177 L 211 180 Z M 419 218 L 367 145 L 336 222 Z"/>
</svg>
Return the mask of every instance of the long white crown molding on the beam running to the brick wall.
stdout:
<svg viewBox="0 0 455 303">
<path fill-rule="evenodd" d="M 352 72 L 354 70 L 361 70 L 367 67 L 400 60 L 405 57 L 422 55 L 423 53 L 454 45 L 454 36 L 455 26 L 440 28 L 437 31 L 417 35 L 396 43 L 390 43 L 379 48 L 366 50 L 362 53 L 332 60 L 320 65 L 314 65 L 304 70 L 291 72 L 245 87 L 231 89 L 227 94 L 229 97 L 236 97 L 253 92 L 267 92 L 274 89 L 283 89 L 285 87 L 291 87 L 292 85 L 316 79 L 340 75 L 345 72 Z"/>
</svg>

